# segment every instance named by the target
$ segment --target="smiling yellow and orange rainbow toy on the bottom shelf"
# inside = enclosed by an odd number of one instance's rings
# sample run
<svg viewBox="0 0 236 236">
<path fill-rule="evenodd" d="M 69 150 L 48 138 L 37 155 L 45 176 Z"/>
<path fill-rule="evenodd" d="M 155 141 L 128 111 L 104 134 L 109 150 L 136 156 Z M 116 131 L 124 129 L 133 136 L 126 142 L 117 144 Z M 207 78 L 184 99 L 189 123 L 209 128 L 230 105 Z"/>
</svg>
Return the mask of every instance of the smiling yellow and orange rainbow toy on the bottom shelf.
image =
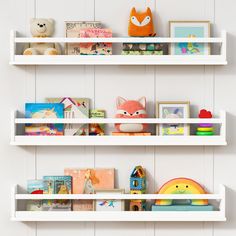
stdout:
<svg viewBox="0 0 236 236">
<path fill-rule="evenodd" d="M 166 182 L 159 189 L 158 194 L 206 194 L 203 187 L 196 181 L 188 178 L 175 178 Z M 158 199 L 155 205 L 172 205 L 171 199 Z M 191 205 L 208 205 L 208 200 L 193 199 Z"/>
</svg>

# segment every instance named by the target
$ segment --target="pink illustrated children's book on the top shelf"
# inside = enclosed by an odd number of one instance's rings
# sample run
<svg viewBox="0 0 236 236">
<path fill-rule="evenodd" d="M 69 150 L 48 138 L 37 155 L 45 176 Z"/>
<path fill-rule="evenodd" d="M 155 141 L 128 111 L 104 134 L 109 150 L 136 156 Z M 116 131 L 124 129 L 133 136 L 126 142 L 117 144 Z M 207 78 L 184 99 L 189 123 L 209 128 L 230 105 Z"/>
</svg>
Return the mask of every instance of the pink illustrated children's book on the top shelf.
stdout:
<svg viewBox="0 0 236 236">
<path fill-rule="evenodd" d="M 81 29 L 81 38 L 111 38 L 111 29 Z M 111 55 L 111 43 L 80 43 L 80 54 L 82 55 Z"/>
</svg>

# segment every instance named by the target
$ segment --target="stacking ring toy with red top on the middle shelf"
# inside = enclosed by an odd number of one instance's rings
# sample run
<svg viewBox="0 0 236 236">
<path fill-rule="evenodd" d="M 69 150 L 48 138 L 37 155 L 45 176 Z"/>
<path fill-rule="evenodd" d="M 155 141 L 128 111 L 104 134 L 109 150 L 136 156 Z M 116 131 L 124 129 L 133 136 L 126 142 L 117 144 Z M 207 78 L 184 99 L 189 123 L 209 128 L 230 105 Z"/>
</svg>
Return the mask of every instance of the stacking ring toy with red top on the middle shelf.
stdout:
<svg viewBox="0 0 236 236">
<path fill-rule="evenodd" d="M 198 117 L 202 119 L 211 119 L 212 113 L 210 111 L 207 111 L 206 109 L 202 109 L 200 110 Z M 213 124 L 210 124 L 210 123 L 198 124 L 196 135 L 199 135 L 199 136 L 214 135 Z"/>
</svg>

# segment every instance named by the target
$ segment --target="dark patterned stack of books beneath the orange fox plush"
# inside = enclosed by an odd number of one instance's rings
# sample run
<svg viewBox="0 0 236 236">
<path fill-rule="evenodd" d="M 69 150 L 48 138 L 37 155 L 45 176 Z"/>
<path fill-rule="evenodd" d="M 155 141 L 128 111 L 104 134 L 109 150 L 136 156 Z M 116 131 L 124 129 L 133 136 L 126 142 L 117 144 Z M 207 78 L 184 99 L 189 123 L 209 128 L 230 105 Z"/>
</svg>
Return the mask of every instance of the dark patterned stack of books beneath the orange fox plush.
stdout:
<svg viewBox="0 0 236 236">
<path fill-rule="evenodd" d="M 163 43 L 123 43 L 122 55 L 167 55 L 168 46 Z"/>
</svg>

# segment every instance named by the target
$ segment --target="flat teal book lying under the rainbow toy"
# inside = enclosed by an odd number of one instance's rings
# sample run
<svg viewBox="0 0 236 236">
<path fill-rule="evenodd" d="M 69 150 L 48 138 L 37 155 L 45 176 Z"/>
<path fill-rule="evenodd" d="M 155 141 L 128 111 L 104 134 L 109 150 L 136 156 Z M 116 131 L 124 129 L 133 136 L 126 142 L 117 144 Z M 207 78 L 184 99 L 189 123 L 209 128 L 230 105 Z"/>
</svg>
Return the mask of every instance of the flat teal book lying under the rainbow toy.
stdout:
<svg viewBox="0 0 236 236">
<path fill-rule="evenodd" d="M 193 205 L 171 205 L 159 206 L 152 205 L 152 211 L 214 211 L 214 206 L 193 206 Z"/>
</svg>

